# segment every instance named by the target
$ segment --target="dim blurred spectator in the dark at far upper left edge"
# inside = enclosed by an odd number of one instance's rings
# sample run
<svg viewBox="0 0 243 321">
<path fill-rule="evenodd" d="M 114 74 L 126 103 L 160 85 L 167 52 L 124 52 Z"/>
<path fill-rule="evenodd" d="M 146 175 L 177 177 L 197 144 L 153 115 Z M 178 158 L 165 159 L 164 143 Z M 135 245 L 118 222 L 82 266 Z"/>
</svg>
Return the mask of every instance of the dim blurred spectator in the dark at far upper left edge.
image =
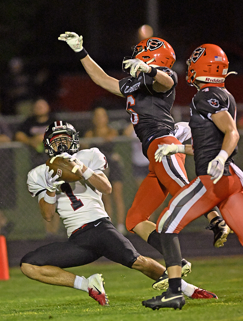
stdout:
<svg viewBox="0 0 243 321">
<path fill-rule="evenodd" d="M 32 81 L 24 70 L 20 57 L 9 61 L 9 70 L 2 83 L 2 113 L 4 115 L 29 115 L 33 98 Z"/>
</svg>

